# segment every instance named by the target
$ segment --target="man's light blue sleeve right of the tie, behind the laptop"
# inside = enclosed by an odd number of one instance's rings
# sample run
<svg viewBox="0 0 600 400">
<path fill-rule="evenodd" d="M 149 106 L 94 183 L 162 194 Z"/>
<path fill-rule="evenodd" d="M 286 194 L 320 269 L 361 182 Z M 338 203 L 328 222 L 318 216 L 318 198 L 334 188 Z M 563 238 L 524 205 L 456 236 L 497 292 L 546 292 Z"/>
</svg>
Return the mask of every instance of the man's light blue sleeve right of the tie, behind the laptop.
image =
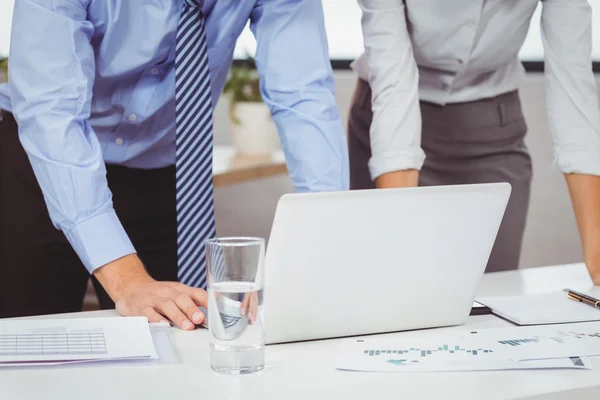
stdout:
<svg viewBox="0 0 600 400">
<path fill-rule="evenodd" d="M 321 0 L 259 1 L 251 16 L 261 94 L 296 191 L 349 187 Z"/>
</svg>

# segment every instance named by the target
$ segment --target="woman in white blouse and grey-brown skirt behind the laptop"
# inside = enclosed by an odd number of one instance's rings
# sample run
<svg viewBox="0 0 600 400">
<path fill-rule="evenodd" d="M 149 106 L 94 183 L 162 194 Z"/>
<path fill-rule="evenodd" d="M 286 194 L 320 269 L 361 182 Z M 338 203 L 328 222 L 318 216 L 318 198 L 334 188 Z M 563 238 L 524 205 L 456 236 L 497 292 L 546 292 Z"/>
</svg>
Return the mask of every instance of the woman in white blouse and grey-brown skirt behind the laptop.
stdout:
<svg viewBox="0 0 600 400">
<path fill-rule="evenodd" d="M 600 284 L 600 111 L 586 0 L 542 0 L 546 103 L 590 274 Z M 507 181 L 487 271 L 518 267 L 531 185 L 518 52 L 538 0 L 359 0 L 365 55 L 349 121 L 351 186 Z"/>
</svg>

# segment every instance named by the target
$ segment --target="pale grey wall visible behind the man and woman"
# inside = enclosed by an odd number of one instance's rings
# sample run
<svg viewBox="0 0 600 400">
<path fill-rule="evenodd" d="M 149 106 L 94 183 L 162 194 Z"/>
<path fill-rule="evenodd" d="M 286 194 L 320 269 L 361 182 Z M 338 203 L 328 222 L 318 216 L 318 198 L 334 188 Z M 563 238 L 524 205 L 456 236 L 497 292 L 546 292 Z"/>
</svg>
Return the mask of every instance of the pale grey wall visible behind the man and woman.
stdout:
<svg viewBox="0 0 600 400">
<path fill-rule="evenodd" d="M 336 73 L 337 99 L 344 124 L 355 78 L 351 72 Z M 598 77 L 600 87 L 600 76 Z M 581 248 L 563 176 L 552 165 L 552 142 L 548 133 L 541 74 L 529 74 L 521 87 L 521 100 L 529 126 L 527 145 L 533 158 L 533 187 L 522 267 L 581 261 Z M 229 143 L 227 104 L 215 113 L 215 135 Z M 215 193 L 219 235 L 258 235 L 268 238 L 277 199 L 293 188 L 287 177 L 219 188 Z"/>
</svg>

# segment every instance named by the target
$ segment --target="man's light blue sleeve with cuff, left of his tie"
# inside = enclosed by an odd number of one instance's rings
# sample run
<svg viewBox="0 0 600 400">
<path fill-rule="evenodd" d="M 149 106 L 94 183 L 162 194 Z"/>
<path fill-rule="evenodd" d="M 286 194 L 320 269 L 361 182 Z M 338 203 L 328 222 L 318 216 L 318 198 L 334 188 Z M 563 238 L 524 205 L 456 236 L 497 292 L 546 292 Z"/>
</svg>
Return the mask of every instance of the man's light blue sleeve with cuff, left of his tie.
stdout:
<svg viewBox="0 0 600 400">
<path fill-rule="evenodd" d="M 93 272 L 135 250 L 113 209 L 88 123 L 95 75 L 89 2 L 17 1 L 9 82 L 19 137 L 50 218 Z"/>
</svg>

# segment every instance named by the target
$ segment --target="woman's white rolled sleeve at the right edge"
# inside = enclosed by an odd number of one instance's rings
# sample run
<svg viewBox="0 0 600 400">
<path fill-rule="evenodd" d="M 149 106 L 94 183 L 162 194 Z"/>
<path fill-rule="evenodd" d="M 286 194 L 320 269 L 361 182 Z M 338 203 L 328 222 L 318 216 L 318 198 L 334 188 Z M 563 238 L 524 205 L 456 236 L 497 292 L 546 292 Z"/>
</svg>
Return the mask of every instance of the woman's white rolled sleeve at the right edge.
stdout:
<svg viewBox="0 0 600 400">
<path fill-rule="evenodd" d="M 592 71 L 592 10 L 586 0 L 543 0 L 546 104 L 563 173 L 600 175 L 600 108 Z"/>
</svg>

